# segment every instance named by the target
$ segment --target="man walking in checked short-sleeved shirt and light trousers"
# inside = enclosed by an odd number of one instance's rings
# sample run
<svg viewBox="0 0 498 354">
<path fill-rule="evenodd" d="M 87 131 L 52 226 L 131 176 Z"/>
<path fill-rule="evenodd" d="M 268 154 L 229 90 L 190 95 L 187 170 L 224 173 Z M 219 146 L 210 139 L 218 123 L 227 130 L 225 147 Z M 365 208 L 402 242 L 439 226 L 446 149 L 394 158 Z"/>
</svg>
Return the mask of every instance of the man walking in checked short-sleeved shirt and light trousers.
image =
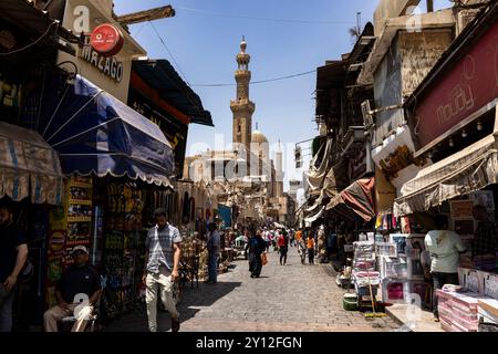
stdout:
<svg viewBox="0 0 498 354">
<path fill-rule="evenodd" d="M 181 254 L 179 231 L 167 221 L 166 210 L 155 211 L 157 225 L 153 227 L 146 239 L 145 270 L 143 281 L 147 287 L 145 299 L 147 303 L 148 330 L 157 332 L 157 292 L 164 306 L 172 315 L 172 331 L 180 327 L 179 314 L 173 300 L 174 282 L 179 279 L 178 264 Z"/>
</svg>

